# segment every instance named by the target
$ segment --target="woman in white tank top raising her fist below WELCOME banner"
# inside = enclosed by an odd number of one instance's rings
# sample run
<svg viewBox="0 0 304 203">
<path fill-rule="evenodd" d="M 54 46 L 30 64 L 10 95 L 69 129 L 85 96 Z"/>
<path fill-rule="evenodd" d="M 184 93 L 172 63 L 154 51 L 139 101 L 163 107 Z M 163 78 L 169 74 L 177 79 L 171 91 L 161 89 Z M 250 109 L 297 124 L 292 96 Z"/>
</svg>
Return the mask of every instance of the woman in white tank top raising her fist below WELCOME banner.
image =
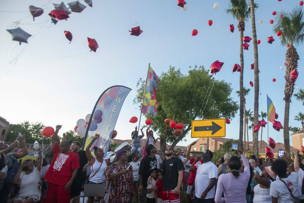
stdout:
<svg viewBox="0 0 304 203">
<path fill-rule="evenodd" d="M 88 159 L 88 165 L 91 166 L 92 173 L 89 177 L 89 183 L 88 184 L 103 184 L 105 185 L 105 167 L 109 165 L 108 160 L 103 159 L 103 156 L 105 153 L 102 149 L 98 147 L 93 147 L 95 157 L 92 156 L 91 153 L 91 146 L 95 142 L 95 140 L 99 138 L 99 134 L 96 134 L 92 141 L 88 144 L 88 146 L 85 148 L 85 155 Z M 93 203 L 94 197 L 88 197 L 88 203 Z"/>
</svg>

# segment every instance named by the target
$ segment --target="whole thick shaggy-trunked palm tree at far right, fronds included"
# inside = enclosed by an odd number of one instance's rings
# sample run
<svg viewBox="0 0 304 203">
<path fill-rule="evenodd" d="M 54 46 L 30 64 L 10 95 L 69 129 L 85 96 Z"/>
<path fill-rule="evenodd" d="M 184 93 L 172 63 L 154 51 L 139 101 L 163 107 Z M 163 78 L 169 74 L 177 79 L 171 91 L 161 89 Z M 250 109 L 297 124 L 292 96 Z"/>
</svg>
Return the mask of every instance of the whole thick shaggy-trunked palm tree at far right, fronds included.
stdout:
<svg viewBox="0 0 304 203">
<path fill-rule="evenodd" d="M 283 16 L 280 18 L 280 16 Z M 285 151 L 290 154 L 290 144 L 289 144 L 289 132 L 288 132 L 288 123 L 289 123 L 289 107 L 291 102 L 291 96 L 294 90 L 295 82 L 290 80 L 290 72 L 295 68 L 298 68 L 299 55 L 294 45 L 303 44 L 304 42 L 304 16 L 302 8 L 294 8 L 292 12 L 279 12 L 275 17 L 275 26 L 273 28 L 274 33 L 277 33 L 278 30 L 282 31 L 280 36 L 282 46 L 290 44 L 289 48 L 286 51 L 286 75 L 285 77 L 285 111 L 284 111 L 284 148 Z"/>
</svg>

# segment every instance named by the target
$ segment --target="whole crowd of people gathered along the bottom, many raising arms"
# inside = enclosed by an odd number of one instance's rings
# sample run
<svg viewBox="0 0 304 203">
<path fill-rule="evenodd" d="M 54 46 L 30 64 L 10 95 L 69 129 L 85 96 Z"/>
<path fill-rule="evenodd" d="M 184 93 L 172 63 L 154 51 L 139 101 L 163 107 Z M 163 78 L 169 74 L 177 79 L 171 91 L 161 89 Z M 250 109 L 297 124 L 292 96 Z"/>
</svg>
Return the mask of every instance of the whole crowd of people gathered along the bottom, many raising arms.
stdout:
<svg viewBox="0 0 304 203">
<path fill-rule="evenodd" d="M 304 193 L 304 164 L 299 151 L 293 163 L 285 153 L 284 158 L 263 166 L 261 159 L 251 156 L 248 161 L 242 150 L 235 149 L 240 157 L 226 153 L 214 164 L 208 149 L 191 156 L 193 142 L 182 155 L 167 146 L 162 160 L 149 126 L 143 149 L 143 128 L 141 135 L 135 129 L 131 155 L 120 150 L 111 163 L 104 158 L 103 149 L 92 148 L 98 134 L 82 151 L 79 142 L 60 142 L 60 128 L 56 126 L 45 157 L 39 148 L 36 160 L 23 160 L 20 166 L 17 159 L 28 154 L 25 138 L 18 136 L 9 146 L 0 143 L 0 203 L 68 203 L 71 199 L 79 203 L 77 197 L 86 184 L 96 188 L 104 185 L 106 191 L 102 197 L 88 197 L 88 203 L 179 203 L 183 191 L 187 203 L 289 203 Z M 18 144 L 22 152 L 9 153 Z"/>
</svg>

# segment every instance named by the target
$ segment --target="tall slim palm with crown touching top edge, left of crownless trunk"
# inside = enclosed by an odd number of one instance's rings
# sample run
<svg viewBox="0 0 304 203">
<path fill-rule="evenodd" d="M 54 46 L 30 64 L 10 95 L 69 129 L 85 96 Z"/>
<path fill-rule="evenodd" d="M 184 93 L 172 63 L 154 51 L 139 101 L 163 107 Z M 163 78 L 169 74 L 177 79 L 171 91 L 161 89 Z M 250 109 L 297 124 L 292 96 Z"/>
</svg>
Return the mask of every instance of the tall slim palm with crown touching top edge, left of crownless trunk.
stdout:
<svg viewBox="0 0 304 203">
<path fill-rule="evenodd" d="M 236 19 L 239 21 L 237 27 L 240 31 L 240 65 L 243 69 L 243 71 L 240 72 L 240 135 L 239 140 L 241 143 L 240 148 L 242 149 L 243 144 L 243 114 L 244 114 L 244 92 L 243 92 L 243 75 L 244 75 L 244 55 L 243 55 L 243 37 L 244 37 L 244 31 L 245 31 L 245 22 L 250 17 L 250 8 L 247 3 L 247 0 L 229 0 L 229 8 L 225 10 L 227 14 L 230 14 L 233 19 Z M 245 129 L 244 129 L 245 131 Z M 245 135 L 244 135 L 245 137 Z M 245 143 L 245 138 L 244 138 Z"/>
</svg>

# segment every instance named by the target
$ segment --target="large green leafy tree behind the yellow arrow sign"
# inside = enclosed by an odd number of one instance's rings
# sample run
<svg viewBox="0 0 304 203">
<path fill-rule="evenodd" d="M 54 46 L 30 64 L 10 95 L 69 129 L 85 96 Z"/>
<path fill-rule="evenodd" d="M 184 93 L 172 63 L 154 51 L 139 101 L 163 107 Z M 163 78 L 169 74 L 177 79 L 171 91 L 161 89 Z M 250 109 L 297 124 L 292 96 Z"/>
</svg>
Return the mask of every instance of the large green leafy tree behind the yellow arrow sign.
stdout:
<svg viewBox="0 0 304 203">
<path fill-rule="evenodd" d="M 133 103 L 141 108 L 146 81 L 137 81 L 137 95 Z M 166 143 L 174 147 L 191 129 L 191 121 L 196 119 L 233 118 L 238 105 L 230 96 L 231 84 L 209 77 L 209 72 L 202 66 L 191 67 L 188 74 L 182 74 L 180 69 L 169 67 L 167 72 L 158 76 L 157 112 L 155 115 L 145 114 L 152 119 L 151 128 L 160 136 L 161 150 Z M 210 95 L 209 95 L 210 94 Z M 205 97 L 206 96 L 206 97 Z M 183 133 L 173 134 L 174 129 L 168 127 L 164 120 L 171 118 L 177 123 L 183 123 Z"/>
</svg>

